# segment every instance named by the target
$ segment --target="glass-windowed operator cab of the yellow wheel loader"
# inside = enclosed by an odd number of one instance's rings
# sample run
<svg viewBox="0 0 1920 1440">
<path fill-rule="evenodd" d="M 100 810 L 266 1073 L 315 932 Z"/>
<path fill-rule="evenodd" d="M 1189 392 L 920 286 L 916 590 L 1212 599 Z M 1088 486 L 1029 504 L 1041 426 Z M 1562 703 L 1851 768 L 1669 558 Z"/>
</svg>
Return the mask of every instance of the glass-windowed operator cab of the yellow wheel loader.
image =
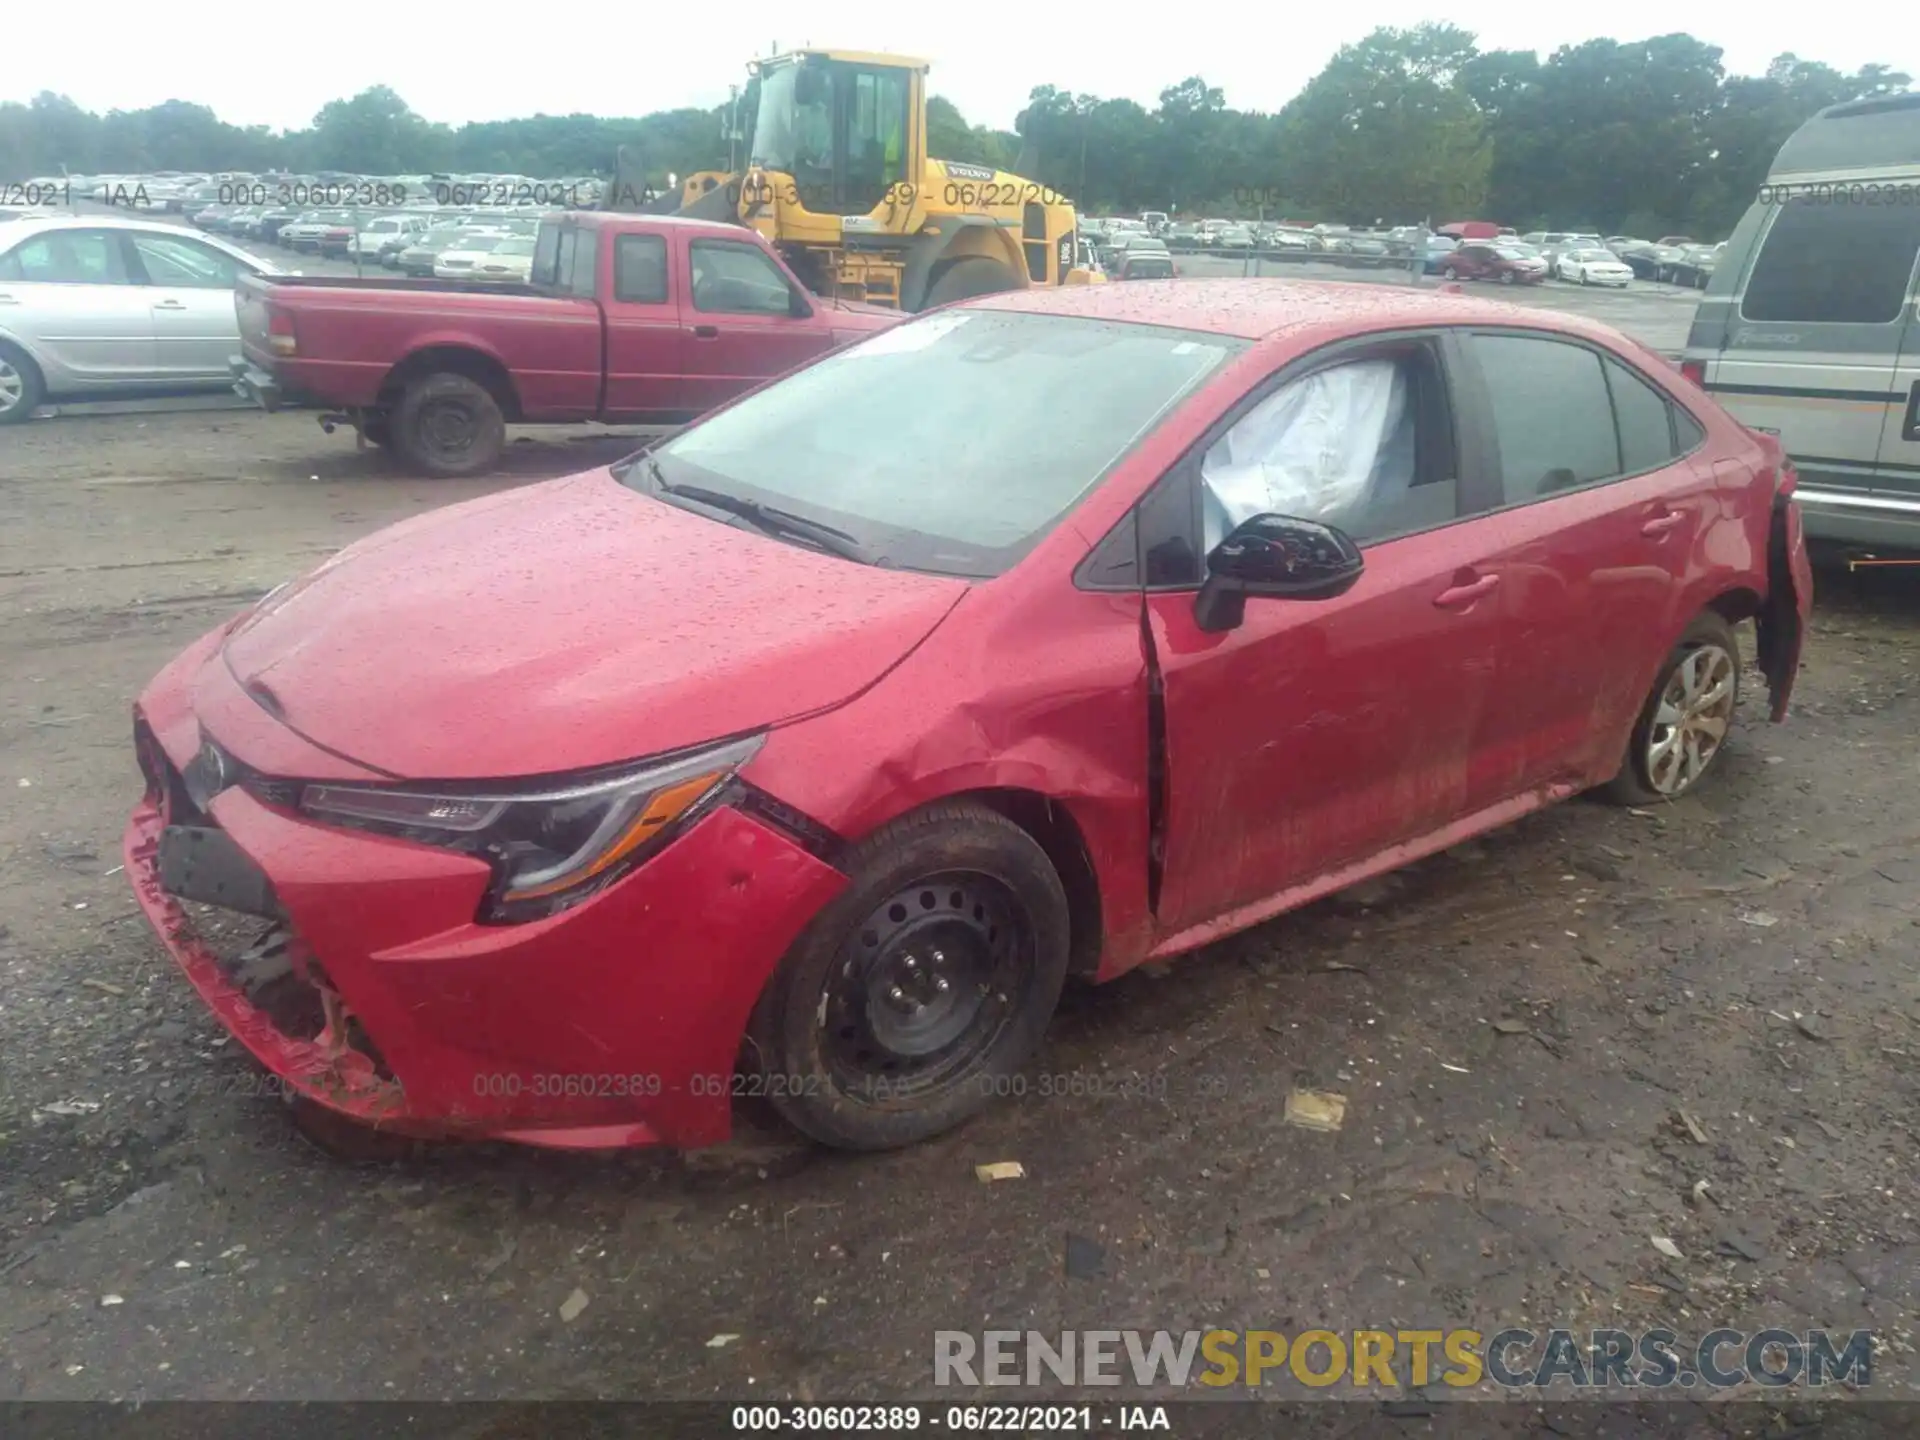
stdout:
<svg viewBox="0 0 1920 1440">
<path fill-rule="evenodd" d="M 868 215 L 920 179 L 924 73 L 897 58 L 818 50 L 760 61 L 749 163 L 791 175 L 814 215 Z"/>
</svg>

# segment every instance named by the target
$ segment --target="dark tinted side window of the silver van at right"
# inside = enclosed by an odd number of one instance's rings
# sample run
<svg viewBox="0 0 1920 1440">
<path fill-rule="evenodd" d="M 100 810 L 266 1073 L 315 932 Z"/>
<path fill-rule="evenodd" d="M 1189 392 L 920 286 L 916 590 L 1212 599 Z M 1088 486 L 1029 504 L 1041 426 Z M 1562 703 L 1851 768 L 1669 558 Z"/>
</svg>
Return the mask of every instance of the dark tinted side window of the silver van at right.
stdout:
<svg viewBox="0 0 1920 1440">
<path fill-rule="evenodd" d="M 1920 205 L 1834 196 L 1788 202 L 1753 261 L 1740 313 L 1749 321 L 1891 324 L 1920 255 Z"/>
</svg>

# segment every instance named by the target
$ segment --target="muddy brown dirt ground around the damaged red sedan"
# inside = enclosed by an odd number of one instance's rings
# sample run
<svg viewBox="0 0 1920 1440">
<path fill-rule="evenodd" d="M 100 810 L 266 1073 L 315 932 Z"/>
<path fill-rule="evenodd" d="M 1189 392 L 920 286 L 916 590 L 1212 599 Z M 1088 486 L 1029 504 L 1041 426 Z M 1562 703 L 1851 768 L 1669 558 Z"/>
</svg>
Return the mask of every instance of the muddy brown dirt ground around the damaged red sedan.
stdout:
<svg viewBox="0 0 1920 1440">
<path fill-rule="evenodd" d="M 0 436 L 0 1400 L 902 1398 L 933 1331 L 996 1323 L 1874 1329 L 1874 1392 L 1920 1400 L 1901 570 L 1822 570 L 1795 714 L 1755 684 L 1701 795 L 1565 804 L 1069 996 L 1041 1069 L 1154 1098 L 866 1160 L 758 1116 L 699 1156 L 313 1150 L 117 874 L 129 701 L 348 540 L 620 449 L 528 440 L 482 486 L 298 415 Z M 1344 1129 L 1283 1125 L 1294 1085 Z"/>
</svg>

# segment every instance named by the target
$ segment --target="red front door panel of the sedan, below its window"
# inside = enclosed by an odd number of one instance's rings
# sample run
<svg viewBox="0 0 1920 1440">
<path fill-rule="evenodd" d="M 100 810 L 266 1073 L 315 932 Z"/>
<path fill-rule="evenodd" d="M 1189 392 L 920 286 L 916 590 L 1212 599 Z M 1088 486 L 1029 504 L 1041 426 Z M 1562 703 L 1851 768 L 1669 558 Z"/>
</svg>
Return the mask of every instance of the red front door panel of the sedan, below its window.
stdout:
<svg viewBox="0 0 1920 1440">
<path fill-rule="evenodd" d="M 1480 522 L 1367 547 L 1325 601 L 1248 599 L 1225 634 L 1192 593 L 1146 597 L 1165 701 L 1162 933 L 1488 803 L 1498 574 Z"/>
</svg>

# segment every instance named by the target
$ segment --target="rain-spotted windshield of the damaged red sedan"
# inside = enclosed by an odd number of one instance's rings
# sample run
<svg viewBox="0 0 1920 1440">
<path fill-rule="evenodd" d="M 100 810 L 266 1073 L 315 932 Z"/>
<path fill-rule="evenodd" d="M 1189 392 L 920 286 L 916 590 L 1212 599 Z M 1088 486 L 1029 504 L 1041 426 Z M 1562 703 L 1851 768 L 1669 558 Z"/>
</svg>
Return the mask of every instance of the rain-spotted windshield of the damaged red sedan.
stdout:
<svg viewBox="0 0 1920 1440">
<path fill-rule="evenodd" d="M 945 311 L 693 424 L 616 474 L 835 526 L 874 563 L 995 576 L 1246 342 L 1064 315 Z"/>
</svg>

